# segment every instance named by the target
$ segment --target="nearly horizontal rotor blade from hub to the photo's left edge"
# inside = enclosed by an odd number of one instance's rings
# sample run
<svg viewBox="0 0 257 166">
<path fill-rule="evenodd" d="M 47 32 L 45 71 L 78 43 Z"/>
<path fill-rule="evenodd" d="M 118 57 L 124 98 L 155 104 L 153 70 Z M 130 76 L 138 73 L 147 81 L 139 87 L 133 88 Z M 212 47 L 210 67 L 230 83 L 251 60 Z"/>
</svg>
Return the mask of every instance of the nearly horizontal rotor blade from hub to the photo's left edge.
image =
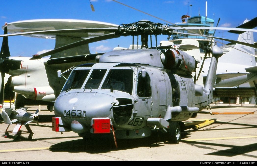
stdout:
<svg viewBox="0 0 257 166">
<path fill-rule="evenodd" d="M 45 31 L 33 31 L 33 32 L 21 32 L 15 34 L 4 34 L 4 36 L 20 36 L 20 35 L 33 35 L 33 34 L 55 34 L 55 33 L 87 33 L 87 32 L 116 32 L 117 28 L 80 28 L 80 29 L 60 29 L 60 30 L 45 30 Z"/>
</svg>

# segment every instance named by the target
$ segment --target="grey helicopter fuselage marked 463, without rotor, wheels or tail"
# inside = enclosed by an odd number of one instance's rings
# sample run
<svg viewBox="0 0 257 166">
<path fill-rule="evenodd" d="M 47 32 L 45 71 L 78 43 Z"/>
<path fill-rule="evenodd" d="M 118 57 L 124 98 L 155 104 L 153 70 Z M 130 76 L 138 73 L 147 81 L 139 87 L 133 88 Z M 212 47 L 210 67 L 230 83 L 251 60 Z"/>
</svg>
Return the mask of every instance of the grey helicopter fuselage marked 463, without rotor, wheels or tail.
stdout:
<svg viewBox="0 0 257 166">
<path fill-rule="evenodd" d="M 161 51 L 158 54 L 161 61 Z M 85 136 L 114 129 L 117 138 L 147 137 L 152 129 L 167 129 L 171 122 L 188 120 L 208 106 L 208 97 L 190 76 L 159 66 L 84 64 L 71 72 L 55 101 L 53 123 L 57 119 L 59 126 L 53 130 Z"/>
</svg>

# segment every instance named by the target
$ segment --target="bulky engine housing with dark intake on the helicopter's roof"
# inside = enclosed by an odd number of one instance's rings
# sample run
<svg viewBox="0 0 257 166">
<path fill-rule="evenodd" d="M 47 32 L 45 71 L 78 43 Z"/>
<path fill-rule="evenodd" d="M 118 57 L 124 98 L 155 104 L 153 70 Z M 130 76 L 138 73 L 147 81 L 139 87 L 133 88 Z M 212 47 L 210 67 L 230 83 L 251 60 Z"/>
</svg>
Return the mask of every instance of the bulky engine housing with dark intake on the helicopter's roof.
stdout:
<svg viewBox="0 0 257 166">
<path fill-rule="evenodd" d="M 161 54 L 161 61 L 165 69 L 172 70 L 178 75 L 188 75 L 196 71 L 195 58 L 177 49 L 165 50 Z"/>
</svg>

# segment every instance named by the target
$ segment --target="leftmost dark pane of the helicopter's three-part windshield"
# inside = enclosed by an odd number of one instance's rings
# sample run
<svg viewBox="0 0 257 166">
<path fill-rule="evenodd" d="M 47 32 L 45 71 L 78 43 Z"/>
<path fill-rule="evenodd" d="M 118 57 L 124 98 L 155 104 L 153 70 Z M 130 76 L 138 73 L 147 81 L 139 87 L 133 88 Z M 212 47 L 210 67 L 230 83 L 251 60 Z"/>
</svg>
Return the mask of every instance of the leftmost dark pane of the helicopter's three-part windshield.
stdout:
<svg viewBox="0 0 257 166">
<path fill-rule="evenodd" d="M 90 70 L 73 70 L 62 91 L 81 88 Z"/>
</svg>

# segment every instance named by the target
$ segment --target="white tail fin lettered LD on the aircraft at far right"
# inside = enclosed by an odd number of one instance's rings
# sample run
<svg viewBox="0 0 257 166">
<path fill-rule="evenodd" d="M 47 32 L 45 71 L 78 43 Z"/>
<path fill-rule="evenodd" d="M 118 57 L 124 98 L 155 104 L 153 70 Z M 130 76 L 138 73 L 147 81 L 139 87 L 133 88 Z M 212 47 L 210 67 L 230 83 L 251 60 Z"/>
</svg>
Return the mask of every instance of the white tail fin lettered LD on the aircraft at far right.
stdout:
<svg viewBox="0 0 257 166">
<path fill-rule="evenodd" d="M 247 21 L 248 20 L 245 20 L 244 23 L 247 23 Z M 237 41 L 253 44 L 253 32 L 247 31 L 240 34 Z M 219 62 L 253 66 L 256 64 L 256 61 L 255 57 L 251 54 L 255 55 L 253 47 L 236 43 L 234 48 L 219 58 Z"/>
</svg>

